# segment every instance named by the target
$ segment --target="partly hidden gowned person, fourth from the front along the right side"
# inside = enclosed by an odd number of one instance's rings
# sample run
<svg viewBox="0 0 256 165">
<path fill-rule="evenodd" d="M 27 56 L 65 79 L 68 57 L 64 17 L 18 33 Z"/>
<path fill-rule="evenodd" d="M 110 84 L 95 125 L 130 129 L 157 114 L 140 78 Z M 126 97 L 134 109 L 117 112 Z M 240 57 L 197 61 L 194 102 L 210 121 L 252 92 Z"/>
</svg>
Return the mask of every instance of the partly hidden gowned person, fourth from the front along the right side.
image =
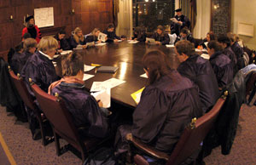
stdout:
<svg viewBox="0 0 256 165">
<path fill-rule="evenodd" d="M 218 43 L 220 43 L 220 45 L 224 48 L 223 53 L 230 58 L 231 63 L 233 65 L 233 71 L 235 71 L 234 74 L 236 74 L 236 61 L 237 60 L 236 60 L 236 54 L 230 48 L 230 38 L 227 36 L 218 37 Z"/>
</svg>

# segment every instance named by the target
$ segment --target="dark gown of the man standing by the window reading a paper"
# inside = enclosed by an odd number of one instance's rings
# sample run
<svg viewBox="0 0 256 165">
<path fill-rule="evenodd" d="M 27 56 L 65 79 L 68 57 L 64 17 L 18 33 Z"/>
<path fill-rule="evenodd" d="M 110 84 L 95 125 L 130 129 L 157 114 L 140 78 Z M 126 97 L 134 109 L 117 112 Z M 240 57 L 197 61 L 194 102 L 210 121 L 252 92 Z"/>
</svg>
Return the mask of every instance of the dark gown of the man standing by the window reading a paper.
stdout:
<svg viewBox="0 0 256 165">
<path fill-rule="evenodd" d="M 179 35 L 180 33 L 180 30 L 183 29 L 183 27 L 188 27 L 190 28 L 190 21 L 189 21 L 189 18 L 186 17 L 185 15 L 181 15 L 180 17 L 178 17 L 177 15 L 175 15 L 175 17 L 177 19 L 177 21 L 182 21 L 183 22 L 183 25 L 179 25 L 179 24 L 176 24 L 174 22 L 171 23 L 171 34 L 173 33 L 176 33 L 177 36 Z"/>
</svg>

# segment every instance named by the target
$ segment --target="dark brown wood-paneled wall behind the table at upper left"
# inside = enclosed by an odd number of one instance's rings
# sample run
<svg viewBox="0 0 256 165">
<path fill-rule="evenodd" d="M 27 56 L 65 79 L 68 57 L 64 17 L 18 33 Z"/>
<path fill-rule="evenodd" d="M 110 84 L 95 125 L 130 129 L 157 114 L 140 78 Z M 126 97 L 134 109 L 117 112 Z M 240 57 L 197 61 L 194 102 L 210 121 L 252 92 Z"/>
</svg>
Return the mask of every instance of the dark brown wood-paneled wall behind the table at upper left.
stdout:
<svg viewBox="0 0 256 165">
<path fill-rule="evenodd" d="M 21 31 L 25 27 L 24 16 L 33 14 L 34 9 L 46 7 L 54 7 L 54 27 L 66 27 L 67 36 L 77 26 L 87 34 L 95 27 L 104 30 L 108 23 L 113 22 L 113 0 L 1 0 L 0 56 L 6 59 L 9 48 L 20 43 Z M 13 15 L 13 20 L 9 19 L 10 15 Z M 47 31 L 47 28 L 41 31 Z"/>
</svg>

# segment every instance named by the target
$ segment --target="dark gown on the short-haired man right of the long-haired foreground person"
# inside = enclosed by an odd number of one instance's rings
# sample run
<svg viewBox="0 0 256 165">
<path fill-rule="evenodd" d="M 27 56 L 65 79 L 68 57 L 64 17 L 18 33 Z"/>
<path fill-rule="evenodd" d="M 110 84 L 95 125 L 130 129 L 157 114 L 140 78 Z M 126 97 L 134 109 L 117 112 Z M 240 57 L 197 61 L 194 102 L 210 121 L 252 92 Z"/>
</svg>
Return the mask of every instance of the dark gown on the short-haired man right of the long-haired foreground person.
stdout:
<svg viewBox="0 0 256 165">
<path fill-rule="evenodd" d="M 204 112 L 211 110 L 220 94 L 218 93 L 218 82 L 209 60 L 201 58 L 198 54 L 192 55 L 177 67 L 177 71 L 198 86 L 202 110 Z"/>
</svg>

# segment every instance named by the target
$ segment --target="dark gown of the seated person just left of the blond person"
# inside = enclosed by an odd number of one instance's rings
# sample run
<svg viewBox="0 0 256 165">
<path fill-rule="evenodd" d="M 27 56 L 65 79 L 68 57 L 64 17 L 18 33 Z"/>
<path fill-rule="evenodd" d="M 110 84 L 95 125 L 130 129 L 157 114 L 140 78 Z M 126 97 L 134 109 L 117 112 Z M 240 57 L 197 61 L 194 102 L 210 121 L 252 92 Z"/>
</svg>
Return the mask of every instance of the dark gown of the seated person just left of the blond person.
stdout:
<svg viewBox="0 0 256 165">
<path fill-rule="evenodd" d="M 15 52 L 10 64 L 15 74 L 21 73 L 23 66 L 26 64 L 26 60 L 28 60 L 28 58 L 31 56 L 32 54 L 29 53 L 28 51 L 25 51 L 21 54 L 18 52 Z"/>
</svg>

